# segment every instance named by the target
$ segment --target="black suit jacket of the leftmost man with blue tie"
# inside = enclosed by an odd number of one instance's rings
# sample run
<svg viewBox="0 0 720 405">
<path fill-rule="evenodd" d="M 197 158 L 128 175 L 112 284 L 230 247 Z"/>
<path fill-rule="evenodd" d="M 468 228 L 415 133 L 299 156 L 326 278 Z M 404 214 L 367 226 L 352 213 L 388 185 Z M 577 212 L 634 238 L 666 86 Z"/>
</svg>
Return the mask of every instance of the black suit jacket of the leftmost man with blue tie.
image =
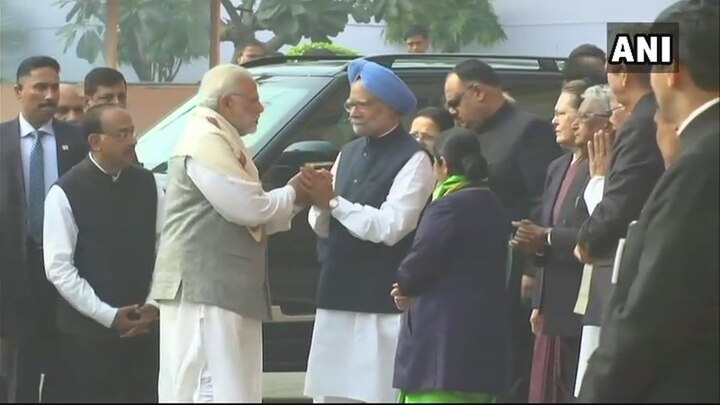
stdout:
<svg viewBox="0 0 720 405">
<path fill-rule="evenodd" d="M 58 177 L 85 158 L 87 140 L 79 127 L 53 120 Z M 14 337 L 18 308 L 26 295 L 27 221 L 18 119 L 0 124 L 0 336 Z"/>
</svg>

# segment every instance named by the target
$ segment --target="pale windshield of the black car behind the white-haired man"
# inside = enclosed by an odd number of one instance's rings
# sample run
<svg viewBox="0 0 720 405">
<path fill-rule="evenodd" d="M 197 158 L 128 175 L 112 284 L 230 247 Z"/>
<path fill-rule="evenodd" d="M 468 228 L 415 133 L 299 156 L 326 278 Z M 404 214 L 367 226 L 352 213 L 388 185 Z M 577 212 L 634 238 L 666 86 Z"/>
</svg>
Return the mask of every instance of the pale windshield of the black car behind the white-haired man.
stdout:
<svg viewBox="0 0 720 405">
<path fill-rule="evenodd" d="M 324 77 L 303 77 L 298 80 L 297 77 L 272 76 L 256 80 L 260 102 L 265 111 L 260 116 L 257 131 L 243 137 L 253 155 L 328 83 Z M 158 173 L 167 170 L 170 154 L 185 132 L 187 120 L 197 104 L 197 96 L 193 96 L 138 140 L 136 151 L 145 168 Z"/>
</svg>

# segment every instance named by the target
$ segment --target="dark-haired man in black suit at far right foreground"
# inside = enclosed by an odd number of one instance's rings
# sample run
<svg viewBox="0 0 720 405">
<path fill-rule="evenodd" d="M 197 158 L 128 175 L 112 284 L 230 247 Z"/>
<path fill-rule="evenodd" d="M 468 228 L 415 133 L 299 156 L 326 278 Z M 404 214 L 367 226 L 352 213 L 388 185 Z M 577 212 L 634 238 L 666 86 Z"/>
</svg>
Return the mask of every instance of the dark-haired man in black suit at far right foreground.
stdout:
<svg viewBox="0 0 720 405">
<path fill-rule="evenodd" d="M 681 152 L 630 229 L 582 402 L 711 402 L 718 390 L 717 1 L 679 1 L 674 66 L 652 73 Z"/>
</svg>

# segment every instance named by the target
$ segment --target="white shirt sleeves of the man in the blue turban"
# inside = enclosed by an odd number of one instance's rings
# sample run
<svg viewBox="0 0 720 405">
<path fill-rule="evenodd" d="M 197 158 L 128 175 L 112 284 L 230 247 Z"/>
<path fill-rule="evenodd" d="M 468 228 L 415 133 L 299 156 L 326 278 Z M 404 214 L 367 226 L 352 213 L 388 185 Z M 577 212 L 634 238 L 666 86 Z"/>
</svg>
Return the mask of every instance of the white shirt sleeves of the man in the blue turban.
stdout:
<svg viewBox="0 0 720 405">
<path fill-rule="evenodd" d="M 339 161 L 340 155 L 331 169 L 333 179 Z M 415 229 L 434 188 L 435 173 L 430 158 L 419 151 L 395 176 L 387 199 L 380 208 L 338 197 L 338 206 L 332 211 L 315 206 L 310 208 L 308 222 L 318 236 L 327 238 L 332 215 L 354 237 L 393 246 Z"/>
</svg>

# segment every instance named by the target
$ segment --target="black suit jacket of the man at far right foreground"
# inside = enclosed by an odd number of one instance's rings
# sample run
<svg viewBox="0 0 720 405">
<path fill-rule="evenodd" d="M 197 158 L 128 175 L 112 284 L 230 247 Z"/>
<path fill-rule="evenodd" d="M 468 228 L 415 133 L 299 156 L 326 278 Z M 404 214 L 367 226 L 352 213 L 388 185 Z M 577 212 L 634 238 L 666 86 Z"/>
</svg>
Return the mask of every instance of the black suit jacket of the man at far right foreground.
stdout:
<svg viewBox="0 0 720 405">
<path fill-rule="evenodd" d="M 628 235 L 583 402 L 720 401 L 718 114 L 682 133 Z"/>
</svg>

